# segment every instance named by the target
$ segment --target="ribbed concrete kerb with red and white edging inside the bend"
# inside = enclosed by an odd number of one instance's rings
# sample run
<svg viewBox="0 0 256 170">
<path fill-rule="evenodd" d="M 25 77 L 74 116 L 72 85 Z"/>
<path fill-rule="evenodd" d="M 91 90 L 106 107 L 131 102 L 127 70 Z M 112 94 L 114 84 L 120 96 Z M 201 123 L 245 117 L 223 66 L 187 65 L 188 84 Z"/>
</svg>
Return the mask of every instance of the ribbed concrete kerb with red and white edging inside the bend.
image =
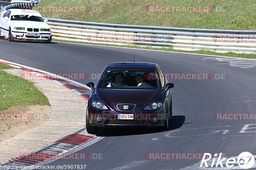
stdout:
<svg viewBox="0 0 256 170">
<path fill-rule="evenodd" d="M 86 116 L 86 100 L 91 93 L 85 85 L 57 75 L 55 77 L 51 73 L 35 68 L 4 60 L 0 60 L 0 62 L 19 68 L 4 70 L 15 76 L 41 75 L 41 78 L 33 79 L 32 82 L 39 91 L 44 93 L 52 106 L 52 115 L 44 123 L 0 142 L 1 170 L 6 169 L 6 166 L 10 170 L 26 169 L 58 158 L 79 146 L 86 147 L 89 143 L 93 144 L 104 138 L 88 134 L 86 128 L 83 127 Z M 45 76 L 46 74 L 51 77 Z M 88 144 L 84 145 L 85 143 Z M 24 166 L 15 168 L 20 165 Z"/>
</svg>

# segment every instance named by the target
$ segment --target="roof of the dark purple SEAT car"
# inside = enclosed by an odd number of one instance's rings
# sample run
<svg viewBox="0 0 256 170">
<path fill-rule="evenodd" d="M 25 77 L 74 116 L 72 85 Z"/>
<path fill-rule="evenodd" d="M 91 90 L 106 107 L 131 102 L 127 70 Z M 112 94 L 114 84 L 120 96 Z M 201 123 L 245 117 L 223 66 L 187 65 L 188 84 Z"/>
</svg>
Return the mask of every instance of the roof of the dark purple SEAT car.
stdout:
<svg viewBox="0 0 256 170">
<path fill-rule="evenodd" d="M 156 70 L 155 63 L 121 62 L 109 63 L 105 70 Z"/>
</svg>

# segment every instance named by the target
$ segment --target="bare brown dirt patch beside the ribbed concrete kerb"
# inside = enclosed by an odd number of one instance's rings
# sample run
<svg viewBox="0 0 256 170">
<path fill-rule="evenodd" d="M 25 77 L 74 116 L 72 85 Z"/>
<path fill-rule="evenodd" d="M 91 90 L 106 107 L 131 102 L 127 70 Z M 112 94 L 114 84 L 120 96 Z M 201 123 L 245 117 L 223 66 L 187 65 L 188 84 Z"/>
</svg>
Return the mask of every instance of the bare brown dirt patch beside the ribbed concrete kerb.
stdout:
<svg viewBox="0 0 256 170">
<path fill-rule="evenodd" d="M 51 106 L 12 106 L 0 113 L 0 141 L 43 123 L 52 114 Z"/>
</svg>

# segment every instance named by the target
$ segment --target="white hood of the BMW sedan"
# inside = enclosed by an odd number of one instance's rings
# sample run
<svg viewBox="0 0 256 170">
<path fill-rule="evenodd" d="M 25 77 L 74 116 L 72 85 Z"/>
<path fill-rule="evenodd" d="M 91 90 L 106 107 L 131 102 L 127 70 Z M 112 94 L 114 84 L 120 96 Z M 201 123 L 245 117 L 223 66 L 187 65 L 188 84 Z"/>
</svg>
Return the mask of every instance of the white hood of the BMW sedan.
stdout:
<svg viewBox="0 0 256 170">
<path fill-rule="evenodd" d="M 45 22 L 37 21 L 10 21 L 12 27 L 50 28 Z"/>
</svg>

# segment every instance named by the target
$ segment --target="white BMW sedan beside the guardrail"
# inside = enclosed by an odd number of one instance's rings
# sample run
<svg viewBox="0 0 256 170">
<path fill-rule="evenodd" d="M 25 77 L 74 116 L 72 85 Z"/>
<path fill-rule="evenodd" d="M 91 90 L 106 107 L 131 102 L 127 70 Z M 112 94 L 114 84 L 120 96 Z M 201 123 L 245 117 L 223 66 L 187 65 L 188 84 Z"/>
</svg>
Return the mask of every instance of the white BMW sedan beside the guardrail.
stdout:
<svg viewBox="0 0 256 170">
<path fill-rule="evenodd" d="M 9 9 L 0 18 L 0 35 L 9 41 L 51 42 L 51 28 L 38 11 Z"/>
</svg>

